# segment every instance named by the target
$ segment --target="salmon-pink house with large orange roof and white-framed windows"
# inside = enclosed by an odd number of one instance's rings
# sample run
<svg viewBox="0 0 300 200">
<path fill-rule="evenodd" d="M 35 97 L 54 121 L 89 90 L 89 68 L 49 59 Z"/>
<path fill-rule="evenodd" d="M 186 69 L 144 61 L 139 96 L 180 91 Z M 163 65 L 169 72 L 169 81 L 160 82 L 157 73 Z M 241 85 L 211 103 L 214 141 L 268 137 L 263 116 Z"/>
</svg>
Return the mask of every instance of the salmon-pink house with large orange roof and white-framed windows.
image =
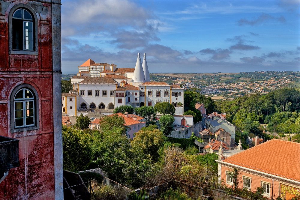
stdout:
<svg viewBox="0 0 300 200">
<path fill-rule="evenodd" d="M 300 195 L 300 143 L 272 139 L 230 157 L 219 151 L 218 176 L 232 187 L 232 169 L 238 169 L 238 187 L 255 191 L 263 188 L 263 195 L 275 199 L 292 199 Z"/>
</svg>

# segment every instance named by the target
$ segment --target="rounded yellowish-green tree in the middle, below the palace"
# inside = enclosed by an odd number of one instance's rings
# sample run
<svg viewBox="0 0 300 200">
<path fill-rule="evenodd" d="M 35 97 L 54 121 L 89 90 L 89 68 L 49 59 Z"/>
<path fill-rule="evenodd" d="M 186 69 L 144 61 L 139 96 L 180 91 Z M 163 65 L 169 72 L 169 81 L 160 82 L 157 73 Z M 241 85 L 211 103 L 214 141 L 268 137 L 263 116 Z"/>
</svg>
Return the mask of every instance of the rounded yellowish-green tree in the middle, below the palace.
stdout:
<svg viewBox="0 0 300 200">
<path fill-rule="evenodd" d="M 144 158 L 152 157 L 155 162 L 158 161 L 158 150 L 164 144 L 164 134 L 158 130 L 140 130 L 135 133 L 134 139 L 131 141 L 131 146 L 136 152 L 143 152 Z"/>
</svg>

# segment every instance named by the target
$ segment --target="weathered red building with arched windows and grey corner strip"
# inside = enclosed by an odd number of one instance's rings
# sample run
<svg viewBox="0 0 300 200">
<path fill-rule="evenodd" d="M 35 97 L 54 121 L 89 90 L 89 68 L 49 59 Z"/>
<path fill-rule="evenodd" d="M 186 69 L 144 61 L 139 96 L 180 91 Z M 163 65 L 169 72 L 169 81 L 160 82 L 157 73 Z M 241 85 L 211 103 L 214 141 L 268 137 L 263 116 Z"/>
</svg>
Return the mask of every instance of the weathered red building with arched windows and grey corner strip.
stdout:
<svg viewBox="0 0 300 200">
<path fill-rule="evenodd" d="M 0 199 L 63 199 L 60 3 L 0 0 L 0 136 L 19 139 Z"/>
</svg>

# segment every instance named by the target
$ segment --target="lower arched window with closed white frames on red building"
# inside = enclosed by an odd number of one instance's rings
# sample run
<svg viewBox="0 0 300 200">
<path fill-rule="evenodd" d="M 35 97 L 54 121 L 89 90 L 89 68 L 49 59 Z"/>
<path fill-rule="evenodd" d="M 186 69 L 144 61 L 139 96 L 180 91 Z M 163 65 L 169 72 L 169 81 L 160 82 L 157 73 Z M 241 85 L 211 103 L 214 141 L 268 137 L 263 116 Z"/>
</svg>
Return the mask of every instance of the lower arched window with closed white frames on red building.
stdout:
<svg viewBox="0 0 300 200">
<path fill-rule="evenodd" d="M 35 96 L 28 88 L 19 89 L 13 99 L 14 127 L 35 126 Z"/>
</svg>

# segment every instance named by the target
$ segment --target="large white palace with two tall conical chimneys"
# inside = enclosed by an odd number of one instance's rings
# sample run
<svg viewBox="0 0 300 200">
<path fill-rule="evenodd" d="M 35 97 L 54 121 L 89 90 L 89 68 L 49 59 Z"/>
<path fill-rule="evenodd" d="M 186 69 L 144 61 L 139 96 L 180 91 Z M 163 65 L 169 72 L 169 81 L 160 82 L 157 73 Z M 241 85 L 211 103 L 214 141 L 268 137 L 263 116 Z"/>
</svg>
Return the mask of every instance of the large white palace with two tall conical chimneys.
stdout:
<svg viewBox="0 0 300 200">
<path fill-rule="evenodd" d="M 177 103 L 184 105 L 184 89 L 179 85 L 150 81 L 146 53 L 143 64 L 138 53 L 135 68 L 117 68 L 115 64 L 88 59 L 78 69 L 77 76 L 71 78 L 73 90 L 61 93 L 61 110 L 67 115 L 90 112 L 110 115 L 121 105 L 154 106 L 164 101 L 176 107 L 175 115 L 182 115 L 183 107 L 179 109 Z"/>
</svg>

